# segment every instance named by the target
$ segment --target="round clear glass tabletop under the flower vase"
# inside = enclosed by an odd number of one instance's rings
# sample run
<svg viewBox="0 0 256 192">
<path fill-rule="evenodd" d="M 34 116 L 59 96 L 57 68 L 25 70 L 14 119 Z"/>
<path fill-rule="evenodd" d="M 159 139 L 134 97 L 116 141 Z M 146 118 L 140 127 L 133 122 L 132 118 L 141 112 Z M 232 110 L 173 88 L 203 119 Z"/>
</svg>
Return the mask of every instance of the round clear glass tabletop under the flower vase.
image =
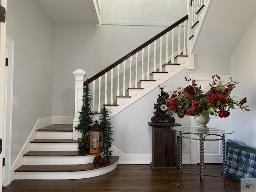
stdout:
<svg viewBox="0 0 256 192">
<path fill-rule="evenodd" d="M 196 126 L 173 126 L 171 127 L 174 131 L 194 133 L 194 134 L 209 134 L 209 135 L 218 135 L 218 134 L 232 134 L 234 131 L 230 129 L 222 130 L 216 127 L 208 127 L 209 130 L 198 130 Z"/>
</svg>

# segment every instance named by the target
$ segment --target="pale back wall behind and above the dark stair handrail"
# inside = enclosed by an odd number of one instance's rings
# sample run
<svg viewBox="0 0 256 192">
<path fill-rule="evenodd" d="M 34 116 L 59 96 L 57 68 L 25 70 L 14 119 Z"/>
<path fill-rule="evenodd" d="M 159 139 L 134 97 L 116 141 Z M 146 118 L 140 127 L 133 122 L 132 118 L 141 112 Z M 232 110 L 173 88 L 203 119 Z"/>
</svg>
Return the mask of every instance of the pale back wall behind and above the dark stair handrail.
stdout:
<svg viewBox="0 0 256 192">
<path fill-rule="evenodd" d="M 164 18 L 169 26 L 186 15 L 187 0 L 128 2 L 103 1 L 102 20 L 111 24 L 102 21 L 101 28 L 94 24 L 54 24 L 53 116 L 74 116 L 74 70 L 82 68 L 90 78 L 167 28 L 159 23 L 152 25 L 152 18 L 157 22 Z M 146 12 L 141 9 L 142 4 Z M 174 4 L 181 10 L 173 9 Z M 163 6 L 163 14 L 154 13 L 155 5 Z"/>
</svg>

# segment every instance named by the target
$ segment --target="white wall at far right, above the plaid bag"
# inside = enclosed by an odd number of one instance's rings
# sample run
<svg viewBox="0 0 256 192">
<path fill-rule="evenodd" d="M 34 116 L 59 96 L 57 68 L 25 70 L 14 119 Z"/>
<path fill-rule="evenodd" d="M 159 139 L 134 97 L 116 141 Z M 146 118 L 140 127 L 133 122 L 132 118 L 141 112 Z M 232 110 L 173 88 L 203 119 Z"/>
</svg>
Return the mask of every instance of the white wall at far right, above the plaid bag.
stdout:
<svg viewBox="0 0 256 192">
<path fill-rule="evenodd" d="M 247 98 L 250 112 L 237 109 L 230 113 L 231 128 L 235 133 L 232 139 L 242 145 L 256 148 L 256 16 L 240 40 L 231 56 L 231 76 L 240 81 L 234 95 Z"/>
</svg>

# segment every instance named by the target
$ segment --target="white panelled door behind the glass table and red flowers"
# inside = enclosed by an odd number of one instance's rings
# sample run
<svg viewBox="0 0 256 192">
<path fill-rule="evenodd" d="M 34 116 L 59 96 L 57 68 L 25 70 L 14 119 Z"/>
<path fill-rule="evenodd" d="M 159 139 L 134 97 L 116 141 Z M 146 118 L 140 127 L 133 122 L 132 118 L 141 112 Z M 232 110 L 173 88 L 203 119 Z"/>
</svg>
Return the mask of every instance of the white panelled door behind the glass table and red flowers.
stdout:
<svg viewBox="0 0 256 192">
<path fill-rule="evenodd" d="M 197 81 L 198 85 L 202 86 L 202 89 L 209 90 L 209 84 L 212 83 L 212 76 L 213 75 L 200 75 L 200 74 L 192 74 L 191 79 L 195 79 Z M 221 81 L 224 83 L 229 82 L 229 77 L 227 75 L 219 75 L 221 78 Z M 192 120 L 192 126 L 196 126 L 196 122 L 194 119 Z M 222 130 L 230 129 L 230 118 L 219 118 L 215 115 L 210 116 L 210 122 L 207 124 L 208 127 L 214 127 L 219 128 Z M 225 136 L 225 140 L 230 138 L 230 135 Z M 206 136 L 206 139 L 218 139 L 220 137 L 218 136 Z M 200 156 L 199 156 L 199 141 L 196 142 L 196 154 L 191 154 L 192 159 L 196 158 L 197 162 L 200 162 Z M 223 157 L 222 157 L 222 140 L 219 141 L 205 141 L 204 142 L 204 162 L 205 163 L 222 163 Z M 195 157 L 196 155 L 196 157 Z"/>
</svg>

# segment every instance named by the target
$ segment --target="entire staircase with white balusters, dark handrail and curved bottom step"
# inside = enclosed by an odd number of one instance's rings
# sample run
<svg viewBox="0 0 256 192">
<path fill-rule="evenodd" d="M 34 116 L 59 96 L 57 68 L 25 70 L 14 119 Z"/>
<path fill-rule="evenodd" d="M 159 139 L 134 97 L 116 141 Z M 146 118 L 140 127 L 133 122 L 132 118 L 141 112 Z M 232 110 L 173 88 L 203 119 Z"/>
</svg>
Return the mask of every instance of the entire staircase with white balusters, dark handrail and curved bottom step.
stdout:
<svg viewBox="0 0 256 192">
<path fill-rule="evenodd" d="M 99 118 L 103 106 L 112 118 L 182 70 L 195 69 L 193 49 L 210 2 L 191 0 L 187 16 L 87 80 L 92 90 L 93 120 Z M 97 154 L 78 154 L 77 139 L 82 134 L 75 126 L 79 123 L 86 73 L 78 69 L 73 74 L 73 124 L 38 129 L 36 139 L 30 142 L 30 151 L 23 155 L 23 165 L 14 172 L 15 179 L 89 178 L 110 172 L 118 165 L 119 156 L 113 156 L 106 166 L 95 166 L 92 162 Z"/>
</svg>

